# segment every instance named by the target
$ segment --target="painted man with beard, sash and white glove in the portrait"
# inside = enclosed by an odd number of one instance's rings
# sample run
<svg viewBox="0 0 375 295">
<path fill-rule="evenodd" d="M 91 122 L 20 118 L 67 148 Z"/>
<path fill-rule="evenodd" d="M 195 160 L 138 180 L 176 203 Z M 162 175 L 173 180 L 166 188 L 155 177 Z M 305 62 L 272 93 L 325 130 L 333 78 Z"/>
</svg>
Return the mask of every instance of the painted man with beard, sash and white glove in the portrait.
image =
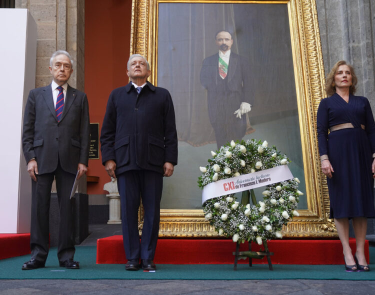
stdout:
<svg viewBox="0 0 375 295">
<path fill-rule="evenodd" d="M 200 83 L 207 89 L 208 115 L 217 148 L 240 140 L 246 132 L 246 113 L 250 105 L 250 68 L 248 60 L 230 50 L 229 31 L 215 34 L 218 52 L 206 57 L 200 70 Z"/>
</svg>

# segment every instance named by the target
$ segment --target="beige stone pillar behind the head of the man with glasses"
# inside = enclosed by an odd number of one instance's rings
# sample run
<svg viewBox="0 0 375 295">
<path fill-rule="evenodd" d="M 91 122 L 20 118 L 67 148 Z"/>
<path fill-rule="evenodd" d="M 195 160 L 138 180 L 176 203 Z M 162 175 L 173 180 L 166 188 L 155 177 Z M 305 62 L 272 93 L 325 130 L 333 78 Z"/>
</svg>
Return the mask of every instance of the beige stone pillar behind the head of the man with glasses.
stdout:
<svg viewBox="0 0 375 295">
<path fill-rule="evenodd" d="M 74 60 L 69 84 L 84 90 L 84 0 L 15 0 L 16 8 L 28 8 L 37 25 L 36 80 L 40 87 L 51 82 L 49 58 L 66 50 Z"/>
</svg>

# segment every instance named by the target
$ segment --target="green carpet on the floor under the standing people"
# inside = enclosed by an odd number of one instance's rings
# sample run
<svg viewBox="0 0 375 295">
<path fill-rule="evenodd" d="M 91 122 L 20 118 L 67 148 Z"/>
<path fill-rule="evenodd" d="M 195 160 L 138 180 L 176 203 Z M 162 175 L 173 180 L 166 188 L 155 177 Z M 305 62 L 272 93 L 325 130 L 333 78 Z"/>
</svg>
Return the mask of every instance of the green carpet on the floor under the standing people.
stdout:
<svg viewBox="0 0 375 295">
<path fill-rule="evenodd" d="M 375 248 L 370 247 L 369 272 L 346 272 L 343 265 L 274 264 L 157 264 L 155 272 L 125 271 L 124 264 L 96 264 L 95 246 L 77 246 L 80 269 L 58 266 L 56 248 L 49 250 L 46 267 L 21 270 L 29 255 L 0 260 L 0 279 L 348 279 L 375 280 Z"/>
</svg>

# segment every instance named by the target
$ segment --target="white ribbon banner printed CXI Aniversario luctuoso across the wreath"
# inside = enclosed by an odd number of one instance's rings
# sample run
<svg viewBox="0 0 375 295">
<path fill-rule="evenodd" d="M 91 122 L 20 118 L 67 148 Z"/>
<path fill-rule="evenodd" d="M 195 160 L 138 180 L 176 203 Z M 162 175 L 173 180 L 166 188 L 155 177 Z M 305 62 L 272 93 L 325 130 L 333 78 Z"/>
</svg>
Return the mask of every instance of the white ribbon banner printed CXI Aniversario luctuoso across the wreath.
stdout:
<svg viewBox="0 0 375 295">
<path fill-rule="evenodd" d="M 265 186 L 293 178 L 287 165 L 217 180 L 204 185 L 202 203 L 216 196 Z"/>
</svg>

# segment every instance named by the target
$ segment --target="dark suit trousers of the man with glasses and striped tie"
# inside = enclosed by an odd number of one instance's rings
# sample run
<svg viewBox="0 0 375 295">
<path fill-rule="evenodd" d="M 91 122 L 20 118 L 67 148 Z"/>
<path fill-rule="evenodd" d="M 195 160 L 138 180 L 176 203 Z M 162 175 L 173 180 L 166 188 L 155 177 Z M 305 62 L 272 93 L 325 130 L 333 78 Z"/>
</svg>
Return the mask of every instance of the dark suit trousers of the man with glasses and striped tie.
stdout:
<svg viewBox="0 0 375 295">
<path fill-rule="evenodd" d="M 48 255 L 49 239 L 49 203 L 53 177 L 56 178 L 56 190 L 59 207 L 59 232 L 57 258 L 60 262 L 73 258 L 75 248 L 73 240 L 73 213 L 70 199 L 75 175 L 62 170 L 60 163 L 52 173 L 36 176 L 31 180 L 31 258 L 45 262 Z"/>
</svg>

